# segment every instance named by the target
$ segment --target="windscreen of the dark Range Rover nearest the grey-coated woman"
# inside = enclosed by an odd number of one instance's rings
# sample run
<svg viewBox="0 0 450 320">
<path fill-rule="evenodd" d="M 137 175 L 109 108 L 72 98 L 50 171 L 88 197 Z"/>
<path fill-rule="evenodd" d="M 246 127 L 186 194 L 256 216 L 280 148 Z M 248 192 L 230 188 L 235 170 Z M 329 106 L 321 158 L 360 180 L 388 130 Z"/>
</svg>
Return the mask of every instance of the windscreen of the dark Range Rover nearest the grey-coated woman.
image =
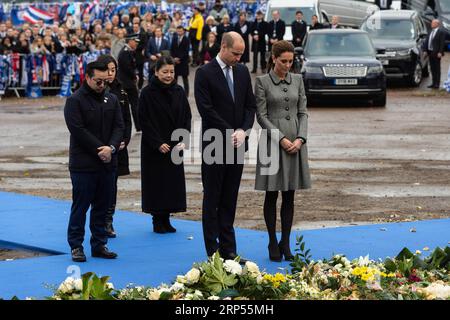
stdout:
<svg viewBox="0 0 450 320">
<path fill-rule="evenodd" d="M 375 51 L 367 34 L 325 33 L 310 34 L 306 56 L 373 56 Z"/>
</svg>

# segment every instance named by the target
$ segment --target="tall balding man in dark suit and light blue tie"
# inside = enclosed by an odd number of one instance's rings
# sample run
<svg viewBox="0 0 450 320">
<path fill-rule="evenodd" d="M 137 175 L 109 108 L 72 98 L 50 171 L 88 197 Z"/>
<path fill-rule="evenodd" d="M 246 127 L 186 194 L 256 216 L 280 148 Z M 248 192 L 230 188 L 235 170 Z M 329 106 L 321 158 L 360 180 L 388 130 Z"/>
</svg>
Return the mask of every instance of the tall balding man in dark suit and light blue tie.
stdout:
<svg viewBox="0 0 450 320">
<path fill-rule="evenodd" d="M 224 259 L 237 257 L 233 223 L 248 148 L 247 131 L 256 111 L 250 74 L 238 63 L 244 51 L 238 33 L 225 33 L 218 56 L 195 75 L 203 136 L 203 236 L 208 256 L 218 250 Z M 209 142 L 211 135 L 214 140 Z"/>
</svg>

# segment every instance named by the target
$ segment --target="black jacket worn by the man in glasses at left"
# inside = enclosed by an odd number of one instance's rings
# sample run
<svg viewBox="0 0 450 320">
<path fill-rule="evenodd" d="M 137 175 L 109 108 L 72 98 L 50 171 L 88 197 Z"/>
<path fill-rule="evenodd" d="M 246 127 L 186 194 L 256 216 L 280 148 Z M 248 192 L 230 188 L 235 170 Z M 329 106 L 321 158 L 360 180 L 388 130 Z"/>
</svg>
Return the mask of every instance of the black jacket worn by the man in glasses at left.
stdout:
<svg viewBox="0 0 450 320">
<path fill-rule="evenodd" d="M 97 94 L 85 82 L 66 100 L 64 119 L 70 131 L 69 170 L 95 172 L 115 170 L 117 153 L 103 163 L 99 147 L 113 145 L 119 150 L 124 122 L 119 100 L 114 94 Z"/>
</svg>

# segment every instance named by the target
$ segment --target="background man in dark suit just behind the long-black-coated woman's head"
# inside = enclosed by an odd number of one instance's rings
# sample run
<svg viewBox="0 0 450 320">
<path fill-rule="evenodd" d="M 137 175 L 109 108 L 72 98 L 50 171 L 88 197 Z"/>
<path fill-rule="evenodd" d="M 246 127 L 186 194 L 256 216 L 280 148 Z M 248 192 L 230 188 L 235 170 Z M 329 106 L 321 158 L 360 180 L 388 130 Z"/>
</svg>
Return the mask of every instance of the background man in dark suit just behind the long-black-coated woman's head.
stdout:
<svg viewBox="0 0 450 320">
<path fill-rule="evenodd" d="M 177 33 L 172 39 L 170 54 L 175 60 L 175 79 L 183 78 L 183 87 L 189 97 L 189 39 L 183 26 L 177 27 Z"/>
</svg>

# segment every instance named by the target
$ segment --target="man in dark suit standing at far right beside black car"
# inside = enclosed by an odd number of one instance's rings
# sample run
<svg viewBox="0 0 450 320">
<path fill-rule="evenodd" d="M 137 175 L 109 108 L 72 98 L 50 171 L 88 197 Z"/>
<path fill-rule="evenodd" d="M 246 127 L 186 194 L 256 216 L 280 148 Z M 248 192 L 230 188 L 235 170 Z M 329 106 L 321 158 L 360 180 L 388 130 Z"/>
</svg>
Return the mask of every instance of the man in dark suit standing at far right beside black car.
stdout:
<svg viewBox="0 0 450 320">
<path fill-rule="evenodd" d="M 429 56 L 432 83 L 428 88 L 438 89 L 441 83 L 441 59 L 445 51 L 445 31 L 440 28 L 438 19 L 431 21 L 431 32 L 423 43 Z"/>
</svg>

